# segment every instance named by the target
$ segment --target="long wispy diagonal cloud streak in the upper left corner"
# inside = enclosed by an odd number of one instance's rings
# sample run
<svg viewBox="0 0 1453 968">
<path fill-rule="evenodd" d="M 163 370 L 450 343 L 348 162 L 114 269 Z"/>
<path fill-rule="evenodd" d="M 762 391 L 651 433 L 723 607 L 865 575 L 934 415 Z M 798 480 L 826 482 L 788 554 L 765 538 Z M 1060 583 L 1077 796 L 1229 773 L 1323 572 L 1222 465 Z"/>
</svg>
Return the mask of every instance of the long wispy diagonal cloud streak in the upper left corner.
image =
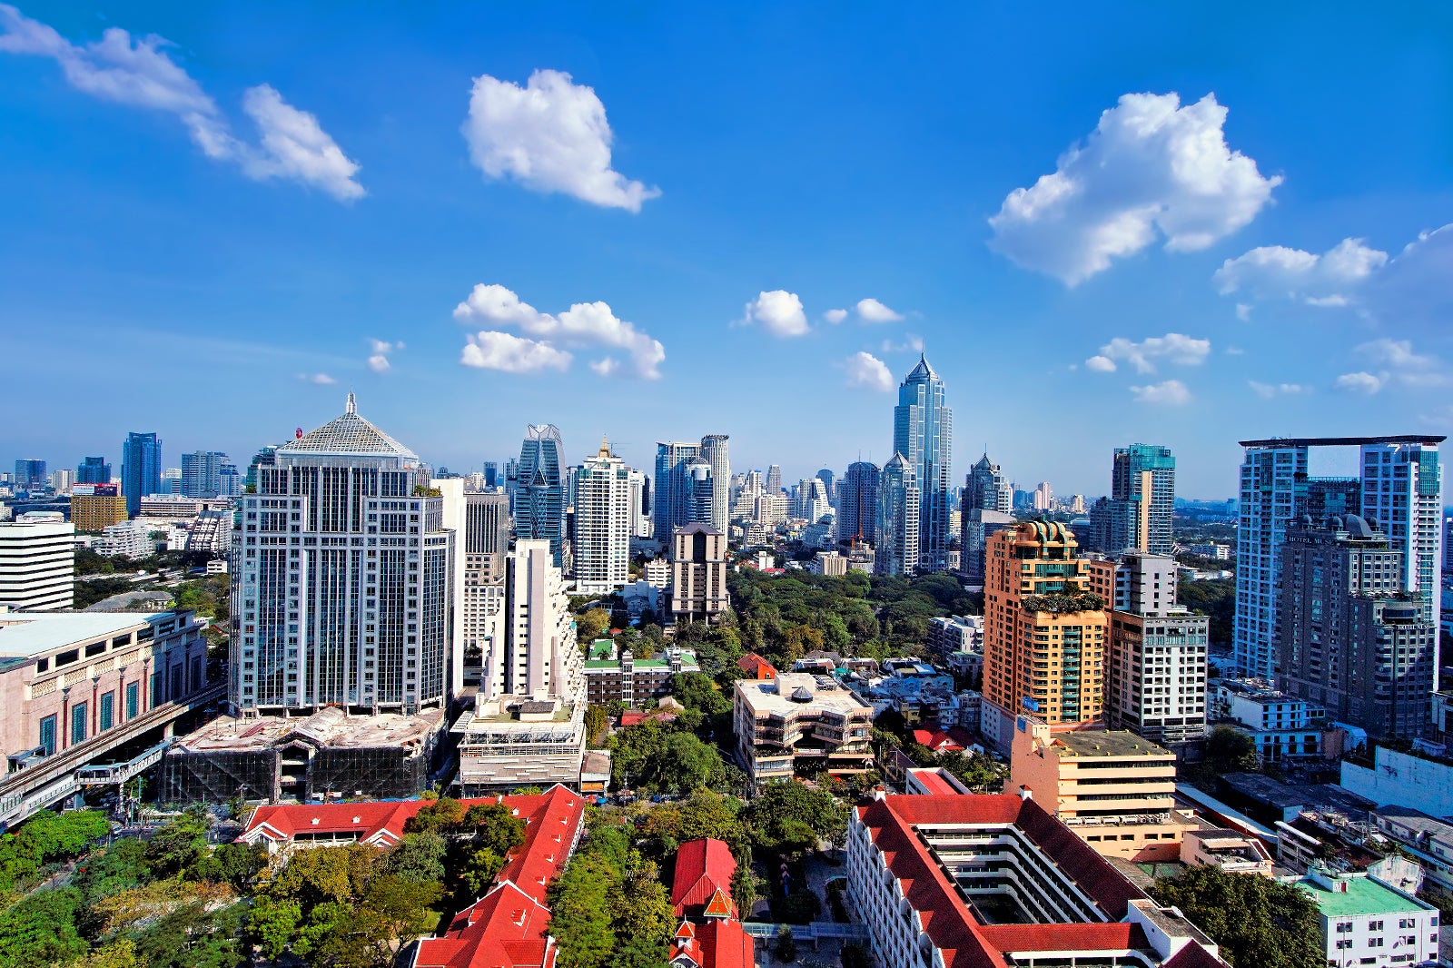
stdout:
<svg viewBox="0 0 1453 968">
<path fill-rule="evenodd" d="M 216 102 L 166 55 L 163 48 L 170 44 L 164 38 L 132 38 L 121 28 L 109 28 L 99 41 L 80 47 L 9 4 L 0 4 L 0 26 L 4 28 L 0 52 L 49 57 L 78 92 L 176 115 L 206 157 L 234 161 L 250 179 L 291 179 L 340 201 L 363 196 L 363 186 L 353 180 L 359 166 L 343 154 L 317 118 L 291 106 L 267 84 L 243 94 L 243 110 L 257 125 L 262 140 L 251 145 L 232 135 Z"/>
</svg>

